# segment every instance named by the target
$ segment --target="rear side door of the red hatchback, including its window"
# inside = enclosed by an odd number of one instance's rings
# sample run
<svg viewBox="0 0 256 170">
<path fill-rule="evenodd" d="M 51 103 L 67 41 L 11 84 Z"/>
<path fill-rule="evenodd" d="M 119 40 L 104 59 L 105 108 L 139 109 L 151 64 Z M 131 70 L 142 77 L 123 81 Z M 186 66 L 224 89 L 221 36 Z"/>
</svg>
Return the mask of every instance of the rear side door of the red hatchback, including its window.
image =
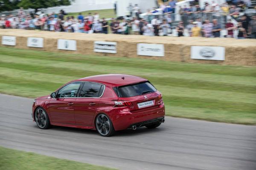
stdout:
<svg viewBox="0 0 256 170">
<path fill-rule="evenodd" d="M 105 85 L 95 82 L 84 82 L 79 96 L 74 103 L 76 125 L 91 126 L 95 113 L 99 111 L 100 97 Z"/>
</svg>

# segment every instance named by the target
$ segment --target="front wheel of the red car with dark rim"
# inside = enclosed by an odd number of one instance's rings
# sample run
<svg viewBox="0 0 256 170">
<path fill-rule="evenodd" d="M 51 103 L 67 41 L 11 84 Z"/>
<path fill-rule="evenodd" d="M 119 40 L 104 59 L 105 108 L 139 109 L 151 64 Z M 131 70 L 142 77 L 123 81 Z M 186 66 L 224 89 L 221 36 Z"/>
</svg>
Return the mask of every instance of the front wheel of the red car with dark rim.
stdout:
<svg viewBox="0 0 256 170">
<path fill-rule="evenodd" d="M 40 129 L 49 129 L 49 127 L 51 126 L 50 119 L 48 117 L 47 112 L 44 110 L 44 108 L 38 107 L 35 110 L 34 119 L 35 119 L 36 125 Z"/>
</svg>

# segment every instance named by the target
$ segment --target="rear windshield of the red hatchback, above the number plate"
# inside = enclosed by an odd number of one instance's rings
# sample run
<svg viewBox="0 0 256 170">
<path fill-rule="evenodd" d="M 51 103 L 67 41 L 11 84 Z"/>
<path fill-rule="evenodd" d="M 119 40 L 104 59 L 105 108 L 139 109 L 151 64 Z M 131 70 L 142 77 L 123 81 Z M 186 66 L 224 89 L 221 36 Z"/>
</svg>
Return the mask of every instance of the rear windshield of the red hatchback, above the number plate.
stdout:
<svg viewBox="0 0 256 170">
<path fill-rule="evenodd" d="M 150 82 L 140 82 L 137 84 L 125 85 L 114 88 L 119 97 L 140 96 L 157 91 Z"/>
</svg>

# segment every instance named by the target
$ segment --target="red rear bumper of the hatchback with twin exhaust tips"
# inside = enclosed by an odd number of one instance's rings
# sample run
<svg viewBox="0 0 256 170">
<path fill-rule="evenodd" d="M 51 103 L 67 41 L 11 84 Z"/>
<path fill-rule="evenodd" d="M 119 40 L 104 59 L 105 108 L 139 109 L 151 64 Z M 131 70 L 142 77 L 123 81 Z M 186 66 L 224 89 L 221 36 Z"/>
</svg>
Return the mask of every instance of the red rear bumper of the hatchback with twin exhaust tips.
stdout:
<svg viewBox="0 0 256 170">
<path fill-rule="evenodd" d="M 125 130 L 132 125 L 137 127 L 144 126 L 152 122 L 160 122 L 164 119 L 165 107 L 159 105 L 149 109 L 142 109 L 141 111 L 125 111 L 116 113 L 112 117 L 112 123 L 115 130 Z"/>
</svg>

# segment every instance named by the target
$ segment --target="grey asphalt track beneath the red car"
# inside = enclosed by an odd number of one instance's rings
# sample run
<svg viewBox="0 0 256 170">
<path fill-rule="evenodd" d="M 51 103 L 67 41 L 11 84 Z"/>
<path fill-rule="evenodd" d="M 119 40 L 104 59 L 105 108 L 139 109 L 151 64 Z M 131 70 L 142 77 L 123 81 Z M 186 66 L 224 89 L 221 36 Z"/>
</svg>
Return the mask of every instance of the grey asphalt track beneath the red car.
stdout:
<svg viewBox="0 0 256 170">
<path fill-rule="evenodd" d="M 166 117 L 160 127 L 101 137 L 31 119 L 33 99 L 0 94 L 0 146 L 121 170 L 255 170 L 256 126 Z"/>
</svg>

